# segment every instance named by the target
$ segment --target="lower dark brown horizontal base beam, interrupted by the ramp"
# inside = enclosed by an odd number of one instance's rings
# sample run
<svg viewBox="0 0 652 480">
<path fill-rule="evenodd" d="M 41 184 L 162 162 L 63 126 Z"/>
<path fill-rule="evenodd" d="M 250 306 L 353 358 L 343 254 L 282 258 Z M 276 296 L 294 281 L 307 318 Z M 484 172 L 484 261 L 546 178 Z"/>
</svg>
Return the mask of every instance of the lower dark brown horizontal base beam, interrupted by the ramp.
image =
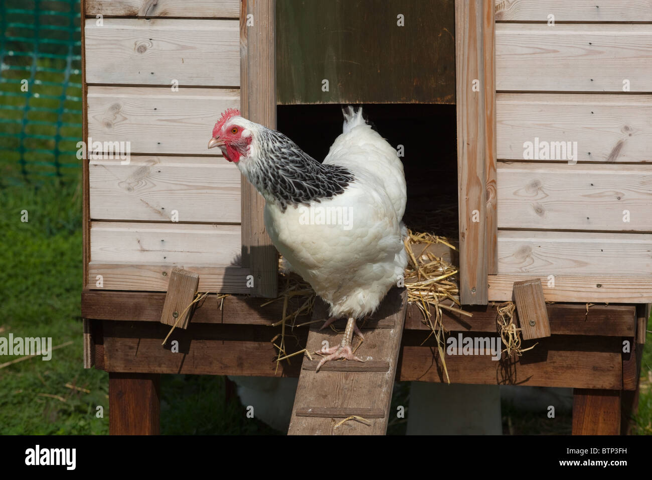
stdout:
<svg viewBox="0 0 652 480">
<path fill-rule="evenodd" d="M 270 340 L 280 327 L 193 324 L 175 330 L 178 353 L 161 345 L 168 327 L 156 322 L 104 321 L 105 368 L 110 372 L 147 371 L 158 374 L 251 375 L 297 377 L 303 359 L 280 363 Z M 289 330 L 289 329 L 288 329 Z M 307 327 L 286 330 L 288 353 L 303 349 Z M 465 336 L 489 336 L 465 332 Z M 443 382 L 445 376 L 432 338 L 427 332 L 403 335 L 397 378 Z M 278 340 L 278 339 L 277 339 Z M 524 347 L 534 342 L 524 342 Z M 617 389 L 623 385 L 621 338 L 552 336 L 539 341 L 518 360 L 491 360 L 488 355 L 446 357 L 451 381 L 486 385 L 535 385 Z"/>
</svg>

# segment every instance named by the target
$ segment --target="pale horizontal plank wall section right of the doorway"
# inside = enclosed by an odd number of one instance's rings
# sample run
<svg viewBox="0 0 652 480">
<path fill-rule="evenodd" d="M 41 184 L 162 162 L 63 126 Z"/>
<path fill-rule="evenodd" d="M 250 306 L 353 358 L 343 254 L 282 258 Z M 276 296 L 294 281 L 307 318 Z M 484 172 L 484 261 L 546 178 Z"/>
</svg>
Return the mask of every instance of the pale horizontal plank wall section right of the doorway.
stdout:
<svg viewBox="0 0 652 480">
<path fill-rule="evenodd" d="M 488 298 L 512 300 L 514 281 L 539 278 L 548 301 L 649 302 L 652 0 L 494 4 L 499 230 Z"/>
</svg>

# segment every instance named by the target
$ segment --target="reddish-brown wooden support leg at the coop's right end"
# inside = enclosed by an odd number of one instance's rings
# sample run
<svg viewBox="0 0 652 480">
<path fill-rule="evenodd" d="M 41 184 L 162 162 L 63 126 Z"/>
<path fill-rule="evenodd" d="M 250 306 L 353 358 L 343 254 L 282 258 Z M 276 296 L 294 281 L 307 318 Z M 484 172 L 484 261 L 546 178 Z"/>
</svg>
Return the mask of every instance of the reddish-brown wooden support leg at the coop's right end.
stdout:
<svg viewBox="0 0 652 480">
<path fill-rule="evenodd" d="M 620 391 L 574 389 L 572 434 L 620 434 Z"/>
</svg>

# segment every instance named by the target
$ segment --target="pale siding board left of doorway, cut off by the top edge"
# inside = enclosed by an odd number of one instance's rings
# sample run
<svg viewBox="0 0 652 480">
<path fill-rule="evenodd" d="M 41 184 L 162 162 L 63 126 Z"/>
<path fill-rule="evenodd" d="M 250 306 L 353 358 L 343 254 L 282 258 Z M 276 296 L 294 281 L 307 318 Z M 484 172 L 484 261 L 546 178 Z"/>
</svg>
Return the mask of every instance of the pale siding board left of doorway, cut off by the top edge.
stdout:
<svg viewBox="0 0 652 480">
<path fill-rule="evenodd" d="M 85 0 L 86 15 L 238 18 L 239 0 Z"/>
</svg>

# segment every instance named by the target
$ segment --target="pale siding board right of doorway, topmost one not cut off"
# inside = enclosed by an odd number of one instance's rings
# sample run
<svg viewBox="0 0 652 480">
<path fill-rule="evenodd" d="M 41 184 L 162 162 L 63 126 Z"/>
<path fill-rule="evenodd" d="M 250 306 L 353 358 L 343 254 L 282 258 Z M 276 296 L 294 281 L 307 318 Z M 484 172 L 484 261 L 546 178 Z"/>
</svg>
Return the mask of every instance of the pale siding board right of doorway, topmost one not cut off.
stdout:
<svg viewBox="0 0 652 480">
<path fill-rule="evenodd" d="M 652 91 L 652 25 L 496 25 L 496 89 Z"/>
</svg>

